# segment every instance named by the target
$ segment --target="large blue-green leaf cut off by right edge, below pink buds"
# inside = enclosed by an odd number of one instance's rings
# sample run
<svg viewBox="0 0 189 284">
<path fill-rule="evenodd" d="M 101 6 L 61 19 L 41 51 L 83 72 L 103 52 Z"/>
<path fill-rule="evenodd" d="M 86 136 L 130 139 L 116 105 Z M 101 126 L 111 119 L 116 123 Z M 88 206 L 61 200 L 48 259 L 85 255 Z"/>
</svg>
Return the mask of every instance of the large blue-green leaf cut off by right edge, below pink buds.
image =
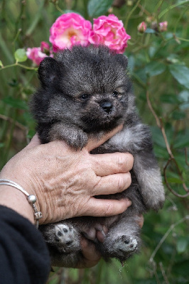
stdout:
<svg viewBox="0 0 189 284">
<path fill-rule="evenodd" d="M 189 68 L 178 64 L 169 65 L 168 68 L 175 80 L 189 89 Z"/>
</svg>

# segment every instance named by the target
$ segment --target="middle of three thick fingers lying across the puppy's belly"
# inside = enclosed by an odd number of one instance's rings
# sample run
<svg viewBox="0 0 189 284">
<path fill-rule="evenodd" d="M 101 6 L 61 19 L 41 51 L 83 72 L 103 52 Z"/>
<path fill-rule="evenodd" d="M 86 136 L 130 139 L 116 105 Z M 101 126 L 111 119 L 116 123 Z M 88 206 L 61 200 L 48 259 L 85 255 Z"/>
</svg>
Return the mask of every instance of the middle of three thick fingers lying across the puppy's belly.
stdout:
<svg viewBox="0 0 189 284">
<path fill-rule="evenodd" d="M 131 185 L 130 173 L 117 173 L 116 175 L 108 175 L 100 178 L 97 186 L 94 188 L 94 195 L 112 195 L 122 192 Z"/>
</svg>

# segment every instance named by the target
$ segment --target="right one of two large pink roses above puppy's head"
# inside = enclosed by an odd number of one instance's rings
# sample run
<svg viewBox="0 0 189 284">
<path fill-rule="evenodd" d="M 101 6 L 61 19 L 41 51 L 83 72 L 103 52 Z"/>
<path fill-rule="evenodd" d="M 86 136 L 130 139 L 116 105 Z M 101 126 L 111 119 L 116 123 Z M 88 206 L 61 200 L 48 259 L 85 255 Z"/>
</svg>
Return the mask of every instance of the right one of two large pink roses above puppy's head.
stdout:
<svg viewBox="0 0 189 284">
<path fill-rule="evenodd" d="M 93 31 L 90 34 L 90 43 L 104 44 L 117 53 L 124 53 L 127 40 L 131 38 L 124 29 L 122 21 L 117 16 L 99 16 L 94 18 Z"/>
</svg>

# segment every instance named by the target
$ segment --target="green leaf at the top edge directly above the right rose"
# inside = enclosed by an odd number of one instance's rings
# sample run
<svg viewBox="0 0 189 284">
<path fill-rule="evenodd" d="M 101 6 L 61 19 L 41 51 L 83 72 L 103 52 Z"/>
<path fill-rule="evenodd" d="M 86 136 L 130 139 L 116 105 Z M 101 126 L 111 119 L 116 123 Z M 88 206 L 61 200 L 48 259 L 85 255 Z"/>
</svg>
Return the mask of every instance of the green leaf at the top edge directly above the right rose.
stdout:
<svg viewBox="0 0 189 284">
<path fill-rule="evenodd" d="M 107 12 L 112 6 L 113 0 L 90 0 L 87 10 L 90 17 L 99 16 Z"/>
</svg>

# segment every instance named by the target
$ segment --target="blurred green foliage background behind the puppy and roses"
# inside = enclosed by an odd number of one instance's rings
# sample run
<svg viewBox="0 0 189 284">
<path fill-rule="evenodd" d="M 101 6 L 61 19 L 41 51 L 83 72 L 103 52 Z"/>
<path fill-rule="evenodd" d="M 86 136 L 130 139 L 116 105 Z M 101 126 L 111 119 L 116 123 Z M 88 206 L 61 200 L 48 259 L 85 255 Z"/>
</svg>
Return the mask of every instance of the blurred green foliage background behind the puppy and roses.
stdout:
<svg viewBox="0 0 189 284">
<path fill-rule="evenodd" d="M 38 78 L 23 49 L 48 41 L 50 26 L 66 11 L 90 21 L 114 13 L 131 35 L 125 54 L 136 104 L 144 123 L 151 126 L 165 183 L 165 206 L 158 214 L 146 214 L 139 255 L 124 266 L 100 261 L 86 270 L 55 268 L 48 283 L 189 283 L 189 1 L 1 0 L 0 5 L 1 167 L 35 133 L 28 99 Z M 148 22 L 146 33 L 139 33 L 141 21 L 168 21 L 168 29 L 155 32 Z"/>
</svg>

